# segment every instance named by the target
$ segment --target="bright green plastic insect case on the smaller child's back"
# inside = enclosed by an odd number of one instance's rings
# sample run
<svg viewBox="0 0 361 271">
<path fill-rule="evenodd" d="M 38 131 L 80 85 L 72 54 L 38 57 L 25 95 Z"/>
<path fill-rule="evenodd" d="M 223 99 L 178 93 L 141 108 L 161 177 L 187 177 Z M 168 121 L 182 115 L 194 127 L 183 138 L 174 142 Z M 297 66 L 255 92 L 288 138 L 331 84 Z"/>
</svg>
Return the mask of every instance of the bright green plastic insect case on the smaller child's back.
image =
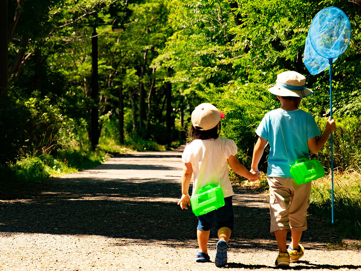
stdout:
<svg viewBox="0 0 361 271">
<path fill-rule="evenodd" d="M 209 184 L 191 197 L 192 211 L 196 216 L 204 215 L 225 205 L 222 189 L 219 185 Z"/>
</svg>

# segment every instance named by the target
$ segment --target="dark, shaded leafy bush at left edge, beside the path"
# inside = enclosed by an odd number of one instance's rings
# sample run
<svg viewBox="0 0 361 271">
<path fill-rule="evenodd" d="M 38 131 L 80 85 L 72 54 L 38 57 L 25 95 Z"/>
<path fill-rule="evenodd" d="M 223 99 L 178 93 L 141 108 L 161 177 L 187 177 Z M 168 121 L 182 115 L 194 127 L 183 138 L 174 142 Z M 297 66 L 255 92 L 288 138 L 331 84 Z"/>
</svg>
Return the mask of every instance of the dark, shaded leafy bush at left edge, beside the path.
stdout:
<svg viewBox="0 0 361 271">
<path fill-rule="evenodd" d="M 18 89 L 11 89 L 13 94 Z M 38 96 L 37 93 L 34 93 Z M 63 116 L 48 97 L 1 100 L 0 163 L 15 162 L 22 156 L 37 152 L 50 153 L 57 147 L 58 131 L 64 125 Z"/>
</svg>

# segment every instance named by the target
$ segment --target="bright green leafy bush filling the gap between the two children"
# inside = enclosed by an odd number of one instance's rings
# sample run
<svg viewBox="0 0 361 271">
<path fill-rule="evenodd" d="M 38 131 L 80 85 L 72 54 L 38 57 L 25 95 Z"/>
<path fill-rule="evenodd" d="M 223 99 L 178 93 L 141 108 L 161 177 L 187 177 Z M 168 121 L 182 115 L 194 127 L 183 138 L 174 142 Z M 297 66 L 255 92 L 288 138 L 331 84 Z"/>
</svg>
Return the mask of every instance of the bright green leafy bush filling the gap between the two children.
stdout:
<svg viewBox="0 0 361 271">
<path fill-rule="evenodd" d="M 239 160 L 250 168 L 253 146 L 258 138 L 255 129 L 266 112 L 278 107 L 274 95 L 259 83 L 222 88 L 210 85 L 197 94 L 225 114 L 226 118 L 221 121 L 221 136 L 235 141 Z M 262 162 L 260 169 L 266 171 Z"/>
</svg>

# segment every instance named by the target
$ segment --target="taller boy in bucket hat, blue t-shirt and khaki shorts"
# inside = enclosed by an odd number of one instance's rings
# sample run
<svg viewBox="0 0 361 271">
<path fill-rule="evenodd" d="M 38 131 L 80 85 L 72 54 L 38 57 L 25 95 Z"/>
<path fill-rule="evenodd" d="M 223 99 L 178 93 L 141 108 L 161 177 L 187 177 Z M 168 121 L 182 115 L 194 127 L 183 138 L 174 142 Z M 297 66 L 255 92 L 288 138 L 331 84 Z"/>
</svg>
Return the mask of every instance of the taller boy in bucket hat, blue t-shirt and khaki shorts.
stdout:
<svg viewBox="0 0 361 271">
<path fill-rule="evenodd" d="M 306 78 L 297 72 L 278 74 L 276 85 L 268 89 L 277 95 L 281 108 L 264 116 L 256 129 L 259 136 L 253 150 L 252 169 L 258 172 L 258 163 L 267 141 L 268 155 L 267 181 L 270 187 L 270 232 L 276 236 L 279 254 L 276 266 L 289 266 L 304 254 L 299 244 L 302 232 L 307 229 L 306 215 L 311 193 L 311 182 L 296 184 L 290 168 L 296 159 L 309 158 L 309 151 L 316 153 L 326 143 L 336 125 L 331 117 L 325 131 L 320 131 L 313 116 L 299 109 L 301 100 L 312 94 L 305 87 Z M 291 244 L 287 248 L 287 232 L 291 231 Z"/>
</svg>

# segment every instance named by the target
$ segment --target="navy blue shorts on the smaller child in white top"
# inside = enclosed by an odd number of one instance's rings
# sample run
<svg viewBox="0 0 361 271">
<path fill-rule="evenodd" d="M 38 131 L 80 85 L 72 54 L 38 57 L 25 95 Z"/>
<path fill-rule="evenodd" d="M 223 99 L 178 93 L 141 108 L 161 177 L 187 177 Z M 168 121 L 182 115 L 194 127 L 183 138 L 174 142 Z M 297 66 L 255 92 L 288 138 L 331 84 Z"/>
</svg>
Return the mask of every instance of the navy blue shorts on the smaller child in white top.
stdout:
<svg viewBox="0 0 361 271">
<path fill-rule="evenodd" d="M 225 198 L 225 206 L 207 214 L 197 216 L 198 227 L 201 231 L 209 231 L 216 228 L 218 231 L 222 227 L 230 228 L 233 231 L 234 213 L 232 206 L 232 196 Z"/>
</svg>

